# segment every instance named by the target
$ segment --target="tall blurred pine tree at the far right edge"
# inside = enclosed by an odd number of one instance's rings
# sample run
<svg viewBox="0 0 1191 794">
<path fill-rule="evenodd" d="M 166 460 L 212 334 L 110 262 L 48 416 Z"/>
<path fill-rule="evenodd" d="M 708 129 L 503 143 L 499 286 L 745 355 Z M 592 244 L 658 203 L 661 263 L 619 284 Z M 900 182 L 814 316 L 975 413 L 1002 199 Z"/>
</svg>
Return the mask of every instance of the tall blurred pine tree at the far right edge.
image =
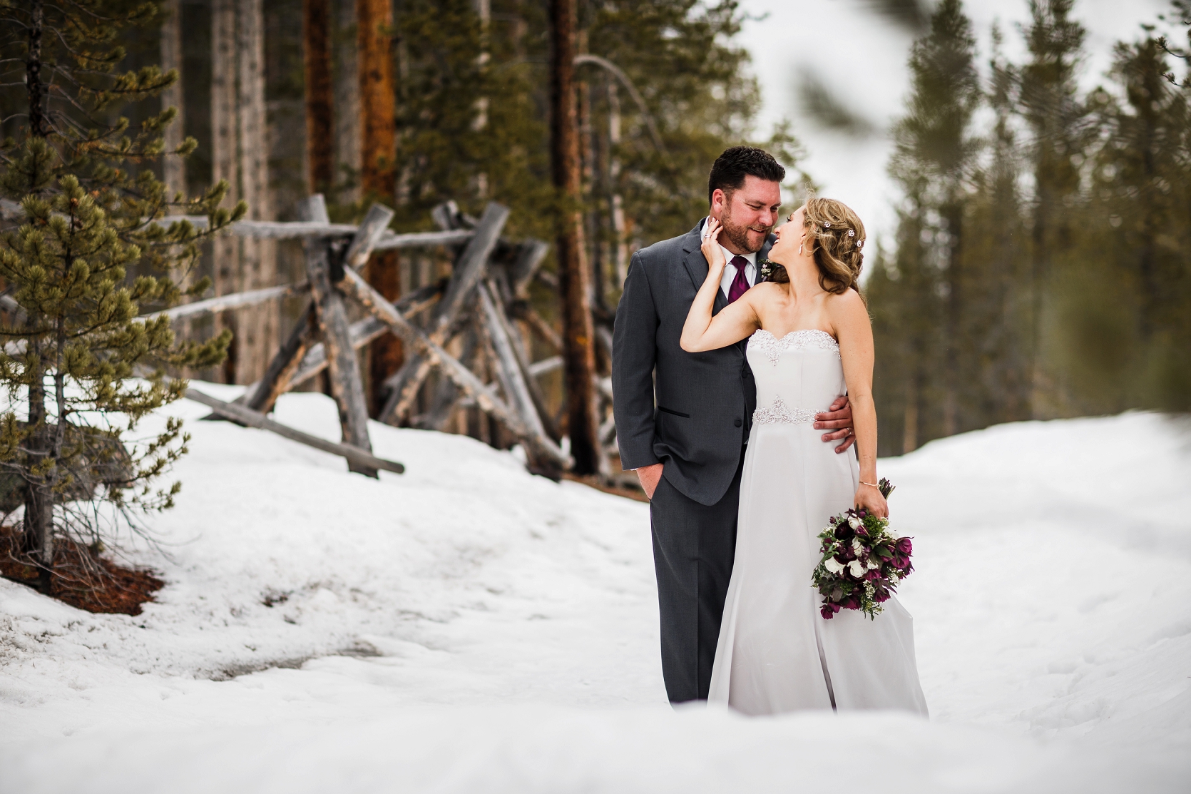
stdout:
<svg viewBox="0 0 1191 794">
<path fill-rule="evenodd" d="M 1087 300 L 1075 303 L 1072 322 L 1086 328 L 1099 321 L 1103 327 L 1106 314 L 1117 318 L 1110 325 L 1121 341 L 1102 340 L 1095 346 L 1098 353 L 1089 349 L 1091 345 L 1079 349 L 1081 372 L 1092 378 L 1096 391 L 1112 392 L 1117 404 L 1110 409 L 1148 404 L 1185 410 L 1191 404 L 1186 374 L 1191 367 L 1191 106 L 1187 89 L 1167 81 L 1168 68 L 1154 38 L 1118 44 L 1111 74 L 1121 83 L 1124 101 L 1108 92 L 1095 94 L 1109 143 L 1096 157 L 1093 196 L 1100 200 L 1093 217 L 1099 222 L 1090 224 L 1089 236 L 1105 263 L 1116 265 L 1104 277 L 1117 289 L 1110 302 L 1099 302 L 1105 304 L 1099 311 Z M 1121 300 L 1122 294 L 1135 297 Z M 1104 355 L 1105 348 L 1120 345 L 1141 355 Z"/>
</svg>

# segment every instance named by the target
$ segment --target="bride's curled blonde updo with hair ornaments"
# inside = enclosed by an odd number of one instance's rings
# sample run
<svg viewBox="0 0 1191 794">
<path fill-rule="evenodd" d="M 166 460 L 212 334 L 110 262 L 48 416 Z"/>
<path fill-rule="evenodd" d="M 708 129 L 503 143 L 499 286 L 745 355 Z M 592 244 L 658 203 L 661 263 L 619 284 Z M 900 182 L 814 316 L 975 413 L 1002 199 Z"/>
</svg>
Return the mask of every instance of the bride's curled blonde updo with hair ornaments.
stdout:
<svg viewBox="0 0 1191 794">
<path fill-rule="evenodd" d="M 855 289 L 858 292 L 860 271 L 865 266 L 865 224 L 843 201 L 809 198 L 803 205 L 803 227 L 806 242 L 815 252 L 819 286 L 827 292 L 843 294 Z M 788 281 L 784 267 L 773 268 L 774 281 Z"/>
</svg>

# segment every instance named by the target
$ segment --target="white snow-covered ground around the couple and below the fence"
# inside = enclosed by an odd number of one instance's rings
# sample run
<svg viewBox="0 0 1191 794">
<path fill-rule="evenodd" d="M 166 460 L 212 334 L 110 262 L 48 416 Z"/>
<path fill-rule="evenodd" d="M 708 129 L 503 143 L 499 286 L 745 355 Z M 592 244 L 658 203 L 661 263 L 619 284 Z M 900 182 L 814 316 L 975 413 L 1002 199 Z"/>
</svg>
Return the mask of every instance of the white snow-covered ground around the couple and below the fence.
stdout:
<svg viewBox="0 0 1191 794">
<path fill-rule="evenodd" d="M 202 385 L 212 393 L 235 390 Z M 187 418 L 206 410 L 182 402 Z M 322 395 L 278 417 L 337 439 Z M 163 421 L 163 420 L 162 420 Z M 188 422 L 136 618 L 0 581 L 0 792 L 1181 792 L 1191 426 L 1021 423 L 880 472 L 931 720 L 666 705 L 644 504 L 372 426 L 404 476 Z M 824 516 L 825 517 L 825 516 Z M 879 620 L 879 618 L 878 618 Z"/>
</svg>

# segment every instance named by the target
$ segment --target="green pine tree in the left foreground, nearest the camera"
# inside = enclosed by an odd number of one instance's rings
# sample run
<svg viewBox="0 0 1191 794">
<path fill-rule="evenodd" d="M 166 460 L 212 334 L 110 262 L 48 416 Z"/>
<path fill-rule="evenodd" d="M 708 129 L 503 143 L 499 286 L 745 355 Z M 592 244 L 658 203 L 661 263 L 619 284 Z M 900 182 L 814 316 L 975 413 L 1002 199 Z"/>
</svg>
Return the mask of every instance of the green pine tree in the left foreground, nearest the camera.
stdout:
<svg viewBox="0 0 1191 794">
<path fill-rule="evenodd" d="M 23 547 L 45 590 L 60 562 L 56 536 L 95 541 L 111 529 L 80 502 L 107 501 L 125 516 L 173 504 L 177 483 L 160 490 L 150 483 L 186 451 L 180 422 L 131 454 L 121 440 L 185 392 L 185 382 L 164 377 L 166 365 L 213 366 L 230 342 L 225 331 L 177 346 L 168 318 L 137 320 L 144 304 L 176 302 L 200 241 L 245 212 L 243 204 L 219 209 L 226 185 L 172 200 L 152 172 L 133 172 L 195 145 L 187 139 L 163 151 L 173 107 L 139 129 L 117 113 L 177 80 L 157 67 L 116 70 L 124 49 L 114 42 L 156 13 L 154 4 L 130 0 L 0 5 L 0 63 L 5 82 L 24 77 L 27 120 L 21 139 L 0 144 L 0 193 L 19 200 L 15 228 L 0 235 L 0 278 L 17 304 L 0 323 L 0 384 L 8 392 L 0 471 L 24 507 Z M 166 228 L 155 218 L 167 209 L 206 215 L 210 227 Z M 129 280 L 133 266 L 142 274 Z M 13 507 L 10 500 L 6 509 Z"/>
</svg>

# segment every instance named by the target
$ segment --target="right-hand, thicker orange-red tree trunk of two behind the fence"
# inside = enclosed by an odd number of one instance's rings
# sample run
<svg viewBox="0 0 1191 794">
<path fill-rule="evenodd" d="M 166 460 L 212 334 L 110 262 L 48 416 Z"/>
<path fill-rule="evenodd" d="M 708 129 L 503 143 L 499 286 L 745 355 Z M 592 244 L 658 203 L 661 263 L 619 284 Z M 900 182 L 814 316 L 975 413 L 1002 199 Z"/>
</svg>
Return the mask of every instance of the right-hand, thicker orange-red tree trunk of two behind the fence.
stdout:
<svg viewBox="0 0 1191 794">
<path fill-rule="evenodd" d="M 389 0 L 356 0 L 357 57 L 360 58 L 360 118 L 363 130 L 361 188 L 364 197 L 392 205 L 397 192 L 393 159 L 397 155 L 393 93 L 393 54 L 388 29 L 393 25 Z M 368 283 L 388 302 L 401 297 L 401 271 L 397 252 L 375 254 L 364 272 Z M 405 360 L 401 341 L 376 340 L 368 351 L 369 408 L 373 416 L 385 404 L 385 380 Z"/>
</svg>

